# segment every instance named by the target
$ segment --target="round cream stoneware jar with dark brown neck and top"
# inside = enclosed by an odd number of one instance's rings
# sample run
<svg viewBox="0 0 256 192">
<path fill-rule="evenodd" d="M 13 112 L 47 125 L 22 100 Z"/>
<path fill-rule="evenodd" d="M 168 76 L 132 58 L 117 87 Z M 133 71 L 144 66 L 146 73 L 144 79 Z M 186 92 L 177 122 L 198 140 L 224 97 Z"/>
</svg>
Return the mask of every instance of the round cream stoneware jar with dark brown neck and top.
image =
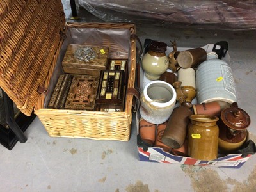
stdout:
<svg viewBox="0 0 256 192">
<path fill-rule="evenodd" d="M 167 44 L 159 41 L 152 41 L 149 51 L 142 58 L 142 68 L 149 80 L 157 80 L 168 69 L 169 58 L 166 56 Z"/>
</svg>

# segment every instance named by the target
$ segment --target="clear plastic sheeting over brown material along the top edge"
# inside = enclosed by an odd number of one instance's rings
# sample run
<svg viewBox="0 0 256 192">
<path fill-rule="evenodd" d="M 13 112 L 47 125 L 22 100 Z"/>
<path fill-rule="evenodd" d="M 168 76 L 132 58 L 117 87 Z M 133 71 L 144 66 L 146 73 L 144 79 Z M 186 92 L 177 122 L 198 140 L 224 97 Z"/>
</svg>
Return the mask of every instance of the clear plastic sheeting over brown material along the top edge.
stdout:
<svg viewBox="0 0 256 192">
<path fill-rule="evenodd" d="M 79 0 L 105 22 L 177 24 L 196 28 L 255 29 L 256 1 Z"/>
</svg>

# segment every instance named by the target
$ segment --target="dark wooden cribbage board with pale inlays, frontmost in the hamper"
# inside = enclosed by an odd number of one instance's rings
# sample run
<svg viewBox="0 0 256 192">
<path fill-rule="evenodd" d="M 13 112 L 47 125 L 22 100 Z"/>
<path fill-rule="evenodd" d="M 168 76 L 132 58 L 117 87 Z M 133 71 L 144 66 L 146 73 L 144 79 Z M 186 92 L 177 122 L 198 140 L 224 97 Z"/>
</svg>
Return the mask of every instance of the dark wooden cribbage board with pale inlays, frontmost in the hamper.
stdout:
<svg viewBox="0 0 256 192">
<path fill-rule="evenodd" d="M 100 72 L 97 105 L 121 104 L 124 96 L 124 71 L 102 70 Z"/>
</svg>

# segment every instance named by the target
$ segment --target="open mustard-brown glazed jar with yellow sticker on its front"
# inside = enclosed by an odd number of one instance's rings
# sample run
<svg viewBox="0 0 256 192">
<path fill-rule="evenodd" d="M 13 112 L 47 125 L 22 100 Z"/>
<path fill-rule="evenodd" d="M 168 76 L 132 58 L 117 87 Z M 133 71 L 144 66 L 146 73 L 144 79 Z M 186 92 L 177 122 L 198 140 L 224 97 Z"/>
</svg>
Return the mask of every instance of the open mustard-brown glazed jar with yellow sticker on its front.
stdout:
<svg viewBox="0 0 256 192">
<path fill-rule="evenodd" d="M 214 115 L 190 115 L 188 125 L 188 155 L 209 161 L 218 156 L 219 120 Z"/>
</svg>

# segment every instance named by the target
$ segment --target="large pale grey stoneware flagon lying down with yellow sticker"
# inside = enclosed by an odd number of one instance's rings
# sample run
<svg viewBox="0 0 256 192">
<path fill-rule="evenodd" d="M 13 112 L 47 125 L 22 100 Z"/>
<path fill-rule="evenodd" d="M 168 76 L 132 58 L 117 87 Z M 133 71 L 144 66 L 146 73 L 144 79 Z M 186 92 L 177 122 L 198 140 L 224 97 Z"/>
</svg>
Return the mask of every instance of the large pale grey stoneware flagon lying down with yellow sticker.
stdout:
<svg viewBox="0 0 256 192">
<path fill-rule="evenodd" d="M 236 89 L 232 70 L 228 63 L 218 59 L 215 52 L 207 54 L 207 60 L 196 70 L 196 97 L 198 103 L 219 102 L 221 110 L 236 102 Z"/>
</svg>

